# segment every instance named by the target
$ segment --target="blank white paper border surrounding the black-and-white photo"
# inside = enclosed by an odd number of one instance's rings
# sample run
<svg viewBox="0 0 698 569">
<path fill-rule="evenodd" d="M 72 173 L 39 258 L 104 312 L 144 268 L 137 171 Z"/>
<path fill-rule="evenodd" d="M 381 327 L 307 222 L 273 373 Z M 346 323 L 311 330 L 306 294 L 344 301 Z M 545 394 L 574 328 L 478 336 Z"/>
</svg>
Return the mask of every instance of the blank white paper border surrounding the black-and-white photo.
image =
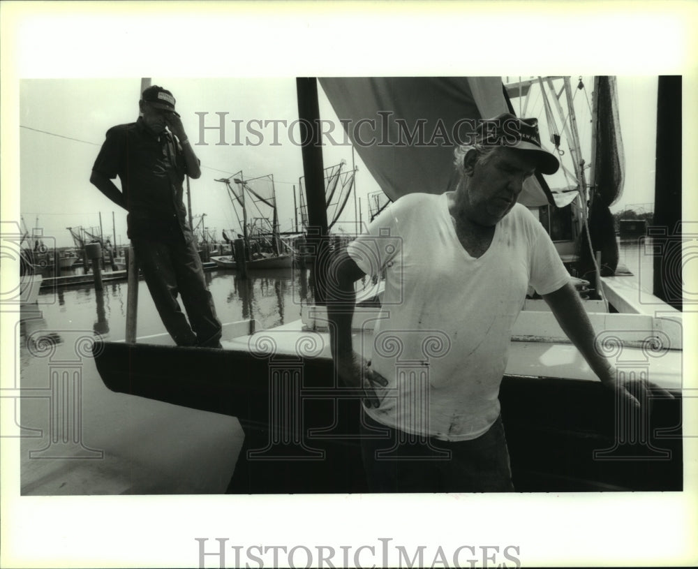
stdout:
<svg viewBox="0 0 698 569">
<path fill-rule="evenodd" d="M 20 77 L 521 75 L 572 68 L 681 73 L 685 93 L 696 92 L 697 13 L 689 2 L 3 1 L 0 10 L 3 220 L 19 219 L 10 189 L 19 187 L 13 140 Z M 170 57 L 171 50 L 180 57 Z M 694 100 L 684 99 L 691 112 L 684 115 L 685 140 L 695 133 Z M 695 144 L 684 149 L 690 219 L 698 214 L 688 191 L 698 179 Z M 686 320 L 695 338 L 695 318 Z M 14 345 L 14 330 L 3 315 L 3 346 Z M 685 377 L 692 370 L 695 360 Z M 380 537 L 451 549 L 513 544 L 521 546 L 524 566 L 698 560 L 695 454 L 687 457 L 687 490 L 676 494 L 20 498 L 17 447 L 3 439 L 0 565 L 7 568 L 195 566 L 196 537 L 244 546 L 358 547 Z"/>
</svg>

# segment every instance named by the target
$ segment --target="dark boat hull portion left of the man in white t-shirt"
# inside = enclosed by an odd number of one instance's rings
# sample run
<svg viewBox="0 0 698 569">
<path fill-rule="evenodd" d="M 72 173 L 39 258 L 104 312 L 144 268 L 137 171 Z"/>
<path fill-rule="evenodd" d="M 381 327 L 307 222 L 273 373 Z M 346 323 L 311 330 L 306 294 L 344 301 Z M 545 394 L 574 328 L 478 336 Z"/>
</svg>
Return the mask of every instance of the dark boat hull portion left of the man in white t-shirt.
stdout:
<svg viewBox="0 0 698 569">
<path fill-rule="evenodd" d="M 355 438 L 359 399 L 343 399 L 335 408 L 331 361 L 279 362 L 235 350 L 117 342 L 97 342 L 93 351 L 114 392 L 238 418 L 245 440 L 229 493 L 367 491 Z M 297 409 L 280 408 L 276 397 L 293 396 L 301 384 L 314 396 L 304 404 L 302 420 Z M 297 428 L 284 428 L 289 425 Z M 309 436 L 312 431 L 322 432 Z"/>
</svg>

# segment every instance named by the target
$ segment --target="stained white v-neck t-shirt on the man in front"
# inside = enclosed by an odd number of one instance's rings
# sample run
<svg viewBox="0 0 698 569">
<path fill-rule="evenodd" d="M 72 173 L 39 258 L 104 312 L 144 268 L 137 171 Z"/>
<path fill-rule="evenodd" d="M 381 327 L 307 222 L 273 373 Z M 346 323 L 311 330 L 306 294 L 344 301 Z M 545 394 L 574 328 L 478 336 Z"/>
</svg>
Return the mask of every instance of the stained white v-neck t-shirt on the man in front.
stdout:
<svg viewBox="0 0 698 569">
<path fill-rule="evenodd" d="M 448 194 L 410 193 L 348 253 L 366 274 L 385 270 L 371 367 L 389 384 L 378 387 L 380 407 L 366 412 L 445 441 L 484 434 L 499 415 L 511 327 L 528 284 L 544 295 L 570 279 L 541 224 L 517 204 L 473 258 L 456 236 Z"/>
</svg>

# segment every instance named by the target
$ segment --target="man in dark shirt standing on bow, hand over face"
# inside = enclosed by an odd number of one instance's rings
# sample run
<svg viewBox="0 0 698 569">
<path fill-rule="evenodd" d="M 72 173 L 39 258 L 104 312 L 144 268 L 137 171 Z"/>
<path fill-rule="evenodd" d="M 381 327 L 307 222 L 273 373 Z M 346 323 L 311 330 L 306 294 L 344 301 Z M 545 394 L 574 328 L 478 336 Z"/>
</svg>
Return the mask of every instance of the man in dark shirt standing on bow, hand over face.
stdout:
<svg viewBox="0 0 698 569">
<path fill-rule="evenodd" d="M 90 182 L 128 211 L 128 237 L 172 339 L 220 348 L 221 323 L 182 202 L 184 176 L 197 179 L 201 170 L 174 103 L 162 87 L 145 89 L 138 121 L 107 131 Z M 112 182 L 117 175 L 121 190 Z"/>
</svg>

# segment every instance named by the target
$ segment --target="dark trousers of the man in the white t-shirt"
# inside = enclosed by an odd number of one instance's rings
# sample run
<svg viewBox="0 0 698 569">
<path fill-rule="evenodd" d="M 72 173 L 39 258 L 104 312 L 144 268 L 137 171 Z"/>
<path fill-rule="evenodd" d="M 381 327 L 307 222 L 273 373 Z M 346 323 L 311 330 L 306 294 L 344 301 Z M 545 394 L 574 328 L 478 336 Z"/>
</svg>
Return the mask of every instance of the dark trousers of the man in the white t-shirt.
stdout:
<svg viewBox="0 0 698 569">
<path fill-rule="evenodd" d="M 371 492 L 513 492 L 502 418 L 472 441 L 410 435 L 362 413 L 362 458 Z"/>
</svg>

